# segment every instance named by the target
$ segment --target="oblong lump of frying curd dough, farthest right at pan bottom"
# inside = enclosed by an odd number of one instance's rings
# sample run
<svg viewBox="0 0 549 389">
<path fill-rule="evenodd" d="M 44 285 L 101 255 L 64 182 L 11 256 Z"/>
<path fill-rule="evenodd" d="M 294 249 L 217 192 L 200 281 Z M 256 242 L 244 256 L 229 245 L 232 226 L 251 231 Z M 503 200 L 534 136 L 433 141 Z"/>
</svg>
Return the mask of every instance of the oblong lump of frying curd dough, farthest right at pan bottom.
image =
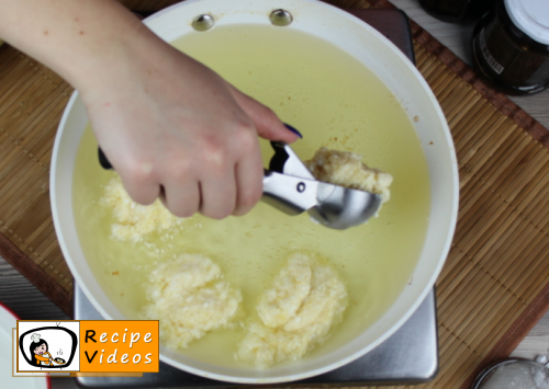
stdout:
<svg viewBox="0 0 549 389">
<path fill-rule="evenodd" d="M 304 254 L 293 254 L 257 305 L 236 357 L 259 368 L 303 357 L 323 343 L 341 320 L 347 291 L 335 271 Z"/>
</svg>

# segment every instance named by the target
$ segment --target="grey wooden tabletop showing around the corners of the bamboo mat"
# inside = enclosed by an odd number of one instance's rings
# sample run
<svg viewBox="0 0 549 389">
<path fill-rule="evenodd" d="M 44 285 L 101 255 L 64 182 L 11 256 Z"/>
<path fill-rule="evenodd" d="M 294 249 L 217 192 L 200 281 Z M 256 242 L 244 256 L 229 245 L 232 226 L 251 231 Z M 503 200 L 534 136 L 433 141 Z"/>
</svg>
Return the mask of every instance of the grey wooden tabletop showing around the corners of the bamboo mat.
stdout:
<svg viewBox="0 0 549 389">
<path fill-rule="evenodd" d="M 469 62 L 467 43 L 469 42 L 471 26 L 455 26 L 436 21 L 426 15 L 414 0 L 394 0 L 401 9 L 419 25 L 425 27 L 442 44 L 451 48 L 462 59 Z M 549 127 L 549 93 L 546 91 L 536 96 L 514 99 L 526 112 Z M 63 319 L 65 316 L 51 304 L 41 293 L 34 289 L 26 279 L 15 274 L 11 266 L 0 261 L 0 301 L 4 301 L 16 313 L 29 319 Z M 549 316 L 531 331 L 530 335 L 519 345 L 515 355 L 531 357 L 542 353 L 549 346 Z M 68 385 L 67 381 L 55 381 L 54 389 Z"/>
</svg>

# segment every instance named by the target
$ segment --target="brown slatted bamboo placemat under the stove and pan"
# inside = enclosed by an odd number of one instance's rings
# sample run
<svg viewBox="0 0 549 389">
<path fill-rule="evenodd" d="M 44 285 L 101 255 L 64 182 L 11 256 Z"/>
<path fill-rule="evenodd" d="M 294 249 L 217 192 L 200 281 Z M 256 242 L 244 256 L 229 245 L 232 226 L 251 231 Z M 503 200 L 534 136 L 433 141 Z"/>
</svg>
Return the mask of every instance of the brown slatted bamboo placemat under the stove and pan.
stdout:
<svg viewBox="0 0 549 389">
<path fill-rule="evenodd" d="M 123 1 L 134 10 L 173 2 Z M 413 22 L 412 30 L 417 67 L 451 128 L 461 188 L 456 237 L 437 282 L 440 371 L 419 388 L 464 389 L 549 307 L 549 133 Z M 0 47 L 0 255 L 68 313 L 72 278 L 53 228 L 48 174 L 70 93 L 41 64 Z"/>
</svg>

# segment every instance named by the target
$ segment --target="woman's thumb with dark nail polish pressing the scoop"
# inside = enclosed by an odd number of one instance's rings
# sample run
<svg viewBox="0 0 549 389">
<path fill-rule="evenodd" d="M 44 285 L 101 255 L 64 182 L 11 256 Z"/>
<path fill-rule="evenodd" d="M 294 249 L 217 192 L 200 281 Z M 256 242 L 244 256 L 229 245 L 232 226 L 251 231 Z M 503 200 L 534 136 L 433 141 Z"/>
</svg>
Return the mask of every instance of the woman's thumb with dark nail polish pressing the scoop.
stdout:
<svg viewBox="0 0 549 389">
<path fill-rule="evenodd" d="M 242 93 L 234 87 L 232 87 L 232 94 L 240 108 L 254 122 L 257 134 L 261 138 L 292 144 L 302 137 L 295 128 L 284 125 L 269 107 Z"/>
</svg>

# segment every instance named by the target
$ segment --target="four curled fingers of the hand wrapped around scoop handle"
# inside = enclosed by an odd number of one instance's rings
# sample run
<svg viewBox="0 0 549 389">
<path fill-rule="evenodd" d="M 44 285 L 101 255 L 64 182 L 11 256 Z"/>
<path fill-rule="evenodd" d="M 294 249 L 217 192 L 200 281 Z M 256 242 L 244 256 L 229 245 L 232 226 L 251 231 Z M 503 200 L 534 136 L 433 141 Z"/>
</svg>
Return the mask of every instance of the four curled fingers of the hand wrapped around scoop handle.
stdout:
<svg viewBox="0 0 549 389">
<path fill-rule="evenodd" d="M 236 127 L 229 145 L 203 144 L 194 160 L 178 157 L 177 163 L 168 158 L 171 162 L 155 171 L 143 161 L 119 163 L 124 187 L 138 204 L 159 197 L 178 217 L 200 211 L 223 219 L 248 213 L 262 194 L 262 161 L 254 126 Z"/>
</svg>

